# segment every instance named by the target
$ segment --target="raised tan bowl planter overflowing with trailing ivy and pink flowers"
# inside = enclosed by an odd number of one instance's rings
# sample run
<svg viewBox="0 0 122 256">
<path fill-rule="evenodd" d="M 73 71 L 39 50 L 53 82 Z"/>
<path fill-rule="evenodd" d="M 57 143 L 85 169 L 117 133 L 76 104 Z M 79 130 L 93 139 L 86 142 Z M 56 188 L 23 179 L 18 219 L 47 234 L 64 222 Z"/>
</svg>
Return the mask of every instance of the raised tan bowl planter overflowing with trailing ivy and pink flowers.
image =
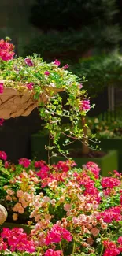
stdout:
<svg viewBox="0 0 122 256">
<path fill-rule="evenodd" d="M 14 46 L 8 39 L 0 41 L 0 117 L 27 116 L 38 107 L 53 140 L 53 147 L 48 147 L 48 150 L 57 148 L 64 154 L 58 145 L 63 117 L 68 117 L 71 123 L 70 129 L 63 130 L 67 137 L 65 142 L 68 144 L 70 139 L 78 139 L 89 146 L 84 128 L 79 128 L 79 121 L 91 109 L 90 98 L 87 98 L 87 91 L 83 90 L 79 77 L 67 70 L 68 65 L 60 68 L 60 61 L 46 63 L 37 54 L 13 58 L 13 50 Z M 67 94 L 65 106 L 61 91 Z M 84 126 L 87 127 L 87 124 L 84 123 Z M 95 148 L 98 149 L 98 146 Z"/>
</svg>

